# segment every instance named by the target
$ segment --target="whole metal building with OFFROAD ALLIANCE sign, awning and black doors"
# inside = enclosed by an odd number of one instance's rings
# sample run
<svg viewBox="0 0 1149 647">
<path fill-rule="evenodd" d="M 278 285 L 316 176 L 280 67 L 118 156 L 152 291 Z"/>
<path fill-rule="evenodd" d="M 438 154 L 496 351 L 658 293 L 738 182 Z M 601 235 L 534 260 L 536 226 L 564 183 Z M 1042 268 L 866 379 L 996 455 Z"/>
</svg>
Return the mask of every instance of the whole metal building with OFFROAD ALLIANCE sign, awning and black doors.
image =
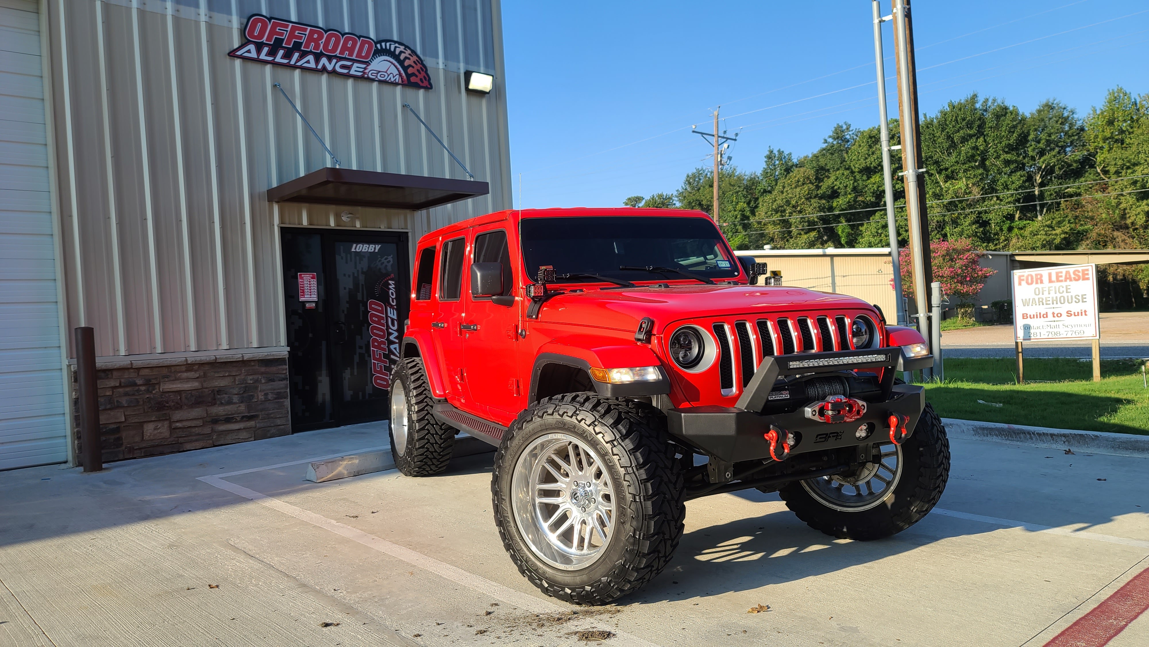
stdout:
<svg viewBox="0 0 1149 647">
<path fill-rule="evenodd" d="M 0 0 L 0 469 L 75 455 L 76 326 L 105 460 L 385 417 L 367 303 L 508 148 L 498 0 Z"/>
</svg>

